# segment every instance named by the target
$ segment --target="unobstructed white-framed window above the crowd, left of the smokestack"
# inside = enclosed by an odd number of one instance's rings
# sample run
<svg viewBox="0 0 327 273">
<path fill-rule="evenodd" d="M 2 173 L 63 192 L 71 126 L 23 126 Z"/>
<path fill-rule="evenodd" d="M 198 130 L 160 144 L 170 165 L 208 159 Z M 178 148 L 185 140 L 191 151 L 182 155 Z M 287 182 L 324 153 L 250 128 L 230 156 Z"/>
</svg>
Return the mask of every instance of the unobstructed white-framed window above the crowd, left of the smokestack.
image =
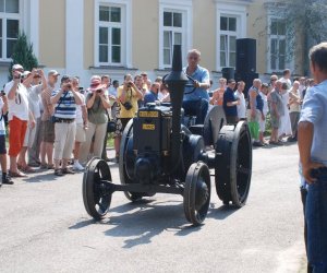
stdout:
<svg viewBox="0 0 327 273">
<path fill-rule="evenodd" d="M 98 27 L 98 62 L 122 64 L 122 8 L 100 5 Z"/>
</svg>

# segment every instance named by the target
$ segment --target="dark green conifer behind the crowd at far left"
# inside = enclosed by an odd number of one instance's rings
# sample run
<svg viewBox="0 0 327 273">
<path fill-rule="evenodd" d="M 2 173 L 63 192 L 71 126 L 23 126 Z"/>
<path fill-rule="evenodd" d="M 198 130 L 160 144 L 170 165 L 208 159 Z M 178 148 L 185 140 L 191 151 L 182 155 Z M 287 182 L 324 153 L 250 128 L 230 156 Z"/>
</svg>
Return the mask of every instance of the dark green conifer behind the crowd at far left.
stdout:
<svg viewBox="0 0 327 273">
<path fill-rule="evenodd" d="M 32 69 L 38 67 L 37 58 L 33 52 L 33 44 L 29 43 L 26 34 L 21 32 L 17 36 L 13 54 L 11 56 L 11 64 L 9 67 L 9 79 L 12 79 L 11 71 L 12 66 L 20 63 L 24 67 L 25 70 L 32 71 Z"/>
</svg>

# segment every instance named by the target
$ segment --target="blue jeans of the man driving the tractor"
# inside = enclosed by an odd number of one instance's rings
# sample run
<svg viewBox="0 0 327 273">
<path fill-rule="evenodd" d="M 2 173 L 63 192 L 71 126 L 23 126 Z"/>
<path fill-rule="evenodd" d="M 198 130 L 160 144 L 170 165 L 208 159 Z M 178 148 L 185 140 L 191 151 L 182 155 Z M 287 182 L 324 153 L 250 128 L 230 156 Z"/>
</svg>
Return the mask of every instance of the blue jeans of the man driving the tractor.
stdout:
<svg viewBox="0 0 327 273">
<path fill-rule="evenodd" d="M 203 124 L 206 118 L 209 103 L 205 98 L 198 98 L 197 100 L 183 100 L 185 116 L 196 116 L 196 124 Z"/>
</svg>

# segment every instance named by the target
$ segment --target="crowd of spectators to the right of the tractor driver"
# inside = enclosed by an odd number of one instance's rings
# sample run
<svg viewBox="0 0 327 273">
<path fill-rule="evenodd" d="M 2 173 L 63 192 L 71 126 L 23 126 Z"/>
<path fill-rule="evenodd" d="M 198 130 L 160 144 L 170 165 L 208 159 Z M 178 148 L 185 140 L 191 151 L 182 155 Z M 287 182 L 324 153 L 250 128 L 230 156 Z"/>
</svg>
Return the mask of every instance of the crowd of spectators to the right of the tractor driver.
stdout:
<svg viewBox="0 0 327 273">
<path fill-rule="evenodd" d="M 306 90 L 314 80 L 295 76 L 286 69 L 281 78 L 271 74 L 269 83 L 254 79 L 244 96 L 245 83 L 233 79 L 219 79 L 219 87 L 213 92 L 210 104 L 223 106 L 228 123 L 247 120 L 254 146 L 283 145 L 298 139 L 298 122 Z M 271 129 L 267 140 L 267 120 Z M 269 130 L 270 131 L 270 130 Z M 266 138 L 265 138 L 266 136 Z M 284 138 L 287 138 L 284 140 Z"/>
</svg>

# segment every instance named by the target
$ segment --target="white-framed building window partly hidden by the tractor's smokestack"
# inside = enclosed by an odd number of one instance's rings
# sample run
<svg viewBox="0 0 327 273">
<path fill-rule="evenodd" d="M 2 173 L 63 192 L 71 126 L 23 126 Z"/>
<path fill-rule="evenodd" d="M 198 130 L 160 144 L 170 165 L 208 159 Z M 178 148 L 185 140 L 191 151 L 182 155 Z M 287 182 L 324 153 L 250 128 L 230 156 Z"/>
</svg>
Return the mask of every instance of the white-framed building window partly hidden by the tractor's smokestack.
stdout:
<svg viewBox="0 0 327 273">
<path fill-rule="evenodd" d="M 164 12 L 164 66 L 171 67 L 173 45 L 181 45 L 183 48 L 183 13 Z"/>
</svg>

